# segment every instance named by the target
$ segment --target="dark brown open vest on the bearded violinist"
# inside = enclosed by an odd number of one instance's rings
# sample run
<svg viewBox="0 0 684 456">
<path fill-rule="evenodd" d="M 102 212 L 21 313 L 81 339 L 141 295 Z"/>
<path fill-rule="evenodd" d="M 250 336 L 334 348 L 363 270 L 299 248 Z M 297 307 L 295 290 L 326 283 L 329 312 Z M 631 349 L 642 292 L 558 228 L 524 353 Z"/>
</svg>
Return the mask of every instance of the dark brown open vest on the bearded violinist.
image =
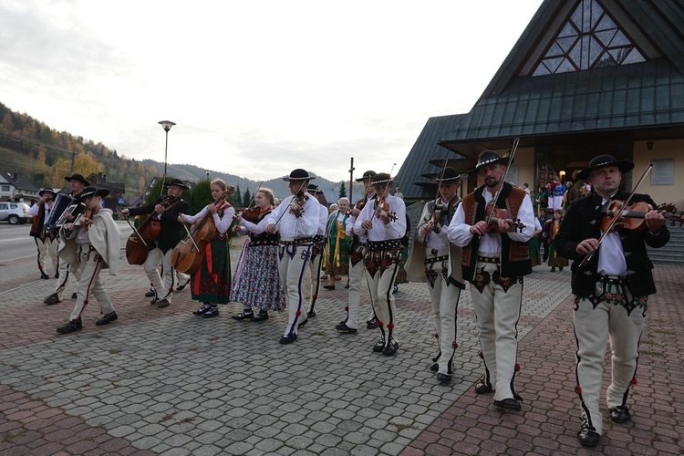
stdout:
<svg viewBox="0 0 684 456">
<path fill-rule="evenodd" d="M 465 223 L 475 224 L 485 220 L 485 209 L 487 203 L 482 196 L 484 185 L 475 192 L 463 198 L 463 212 Z M 499 193 L 496 206 L 506 209 L 509 217 L 513 220 L 518 218 L 518 211 L 523 205 L 527 193 L 521 189 L 514 188 L 510 183 L 503 183 L 502 191 Z M 463 247 L 463 277 L 472 281 L 472 276 L 477 263 L 477 252 L 480 246 L 480 239 L 475 236 L 471 244 Z M 513 241 L 505 233 L 501 234 L 501 275 L 502 277 L 513 277 L 532 274 L 532 262 L 530 261 L 530 249 L 527 243 Z"/>
</svg>

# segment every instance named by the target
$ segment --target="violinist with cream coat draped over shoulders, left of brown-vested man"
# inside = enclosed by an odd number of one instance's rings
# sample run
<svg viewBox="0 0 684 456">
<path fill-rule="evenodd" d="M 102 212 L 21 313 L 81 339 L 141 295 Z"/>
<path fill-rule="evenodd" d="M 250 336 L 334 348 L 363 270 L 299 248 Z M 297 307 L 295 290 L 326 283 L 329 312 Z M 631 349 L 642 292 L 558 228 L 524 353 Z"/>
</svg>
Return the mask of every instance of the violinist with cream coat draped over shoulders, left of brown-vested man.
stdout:
<svg viewBox="0 0 684 456">
<path fill-rule="evenodd" d="M 451 166 L 440 170 L 435 178 L 439 194 L 423 208 L 407 267 L 409 281 L 428 282 L 439 348 L 437 356 L 432 358 L 431 370 L 437 372 L 440 383 L 451 381 L 451 361 L 458 347 L 456 311 L 461 290 L 465 288 L 461 247 L 449 242 L 446 228 L 461 204 L 457 192 L 461 181 L 467 178 L 468 174 L 459 174 Z"/>
</svg>

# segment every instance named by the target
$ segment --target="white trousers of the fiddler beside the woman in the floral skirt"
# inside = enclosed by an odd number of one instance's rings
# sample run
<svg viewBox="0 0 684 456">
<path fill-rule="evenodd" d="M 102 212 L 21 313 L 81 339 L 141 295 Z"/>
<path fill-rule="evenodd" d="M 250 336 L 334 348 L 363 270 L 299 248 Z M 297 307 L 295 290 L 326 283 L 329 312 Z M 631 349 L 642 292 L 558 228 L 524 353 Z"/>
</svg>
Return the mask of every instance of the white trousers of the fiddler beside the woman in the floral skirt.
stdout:
<svg viewBox="0 0 684 456">
<path fill-rule="evenodd" d="M 278 273 L 287 294 L 288 320 L 285 337 L 297 334 L 297 326 L 306 320 L 304 310 L 304 276 L 311 259 L 313 243 L 281 245 L 278 250 Z"/>
</svg>

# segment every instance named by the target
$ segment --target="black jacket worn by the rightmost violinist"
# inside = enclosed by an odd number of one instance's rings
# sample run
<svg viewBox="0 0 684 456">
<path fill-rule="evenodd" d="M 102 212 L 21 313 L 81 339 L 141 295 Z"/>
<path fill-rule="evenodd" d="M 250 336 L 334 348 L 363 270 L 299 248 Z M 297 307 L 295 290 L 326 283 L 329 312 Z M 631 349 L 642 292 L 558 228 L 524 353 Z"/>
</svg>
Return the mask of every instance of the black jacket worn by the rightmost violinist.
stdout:
<svg viewBox="0 0 684 456">
<path fill-rule="evenodd" d="M 626 192 L 618 192 L 613 199 L 625 201 L 628 196 Z M 591 295 L 595 291 L 600 251 L 596 252 L 580 270 L 578 266 L 585 255 L 577 254 L 575 249 L 577 244 L 585 239 L 601 237 L 599 228 L 601 202 L 602 198 L 596 193 L 572 202 L 561 223 L 561 228 L 555 236 L 555 249 L 558 253 L 565 258 L 575 260 L 572 265 L 572 288 L 573 293 L 581 297 Z M 651 207 L 657 207 L 650 196 L 644 194 L 635 194 L 632 197 L 632 202 L 648 202 Z M 627 285 L 631 289 L 632 295 L 645 296 L 656 293 L 652 274 L 653 264 L 648 259 L 646 245 L 662 247 L 668 244 L 668 227 L 663 225 L 660 232 L 656 234 L 649 233 L 648 229 L 632 231 L 624 228 L 619 230 L 618 234 L 625 252 Z"/>
</svg>

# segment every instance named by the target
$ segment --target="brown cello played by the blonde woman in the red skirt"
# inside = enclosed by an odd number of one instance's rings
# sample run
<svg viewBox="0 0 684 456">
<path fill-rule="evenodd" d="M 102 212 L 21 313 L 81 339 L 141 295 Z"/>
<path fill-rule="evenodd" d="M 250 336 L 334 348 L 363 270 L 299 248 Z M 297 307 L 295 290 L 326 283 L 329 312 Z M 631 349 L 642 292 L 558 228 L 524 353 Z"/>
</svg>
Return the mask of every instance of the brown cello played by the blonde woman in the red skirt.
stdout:
<svg viewBox="0 0 684 456">
<path fill-rule="evenodd" d="M 213 202 L 213 205 L 215 206 L 219 202 L 225 201 L 234 191 L 235 188 L 233 186 L 228 187 L 228 190 L 223 192 Z M 206 215 L 196 223 L 192 232 L 188 231 L 188 227 L 184 223 L 183 227 L 188 234 L 180 243 L 173 247 L 171 264 L 177 271 L 193 275 L 202 265 L 205 247 L 212 242 L 213 236 L 216 235 L 216 225 L 213 223 L 211 212 L 207 210 Z"/>
</svg>

